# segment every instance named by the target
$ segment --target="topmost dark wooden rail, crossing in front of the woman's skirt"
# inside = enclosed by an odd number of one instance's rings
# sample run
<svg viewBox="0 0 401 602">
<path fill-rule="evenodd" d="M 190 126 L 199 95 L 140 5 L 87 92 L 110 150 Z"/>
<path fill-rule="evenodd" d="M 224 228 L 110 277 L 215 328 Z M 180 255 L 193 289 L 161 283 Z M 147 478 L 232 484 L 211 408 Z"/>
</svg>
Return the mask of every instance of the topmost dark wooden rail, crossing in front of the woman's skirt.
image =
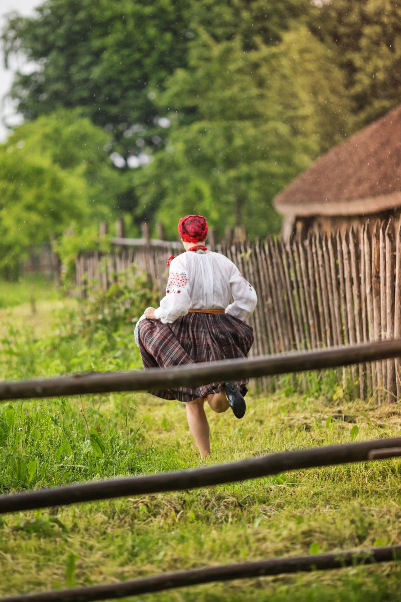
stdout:
<svg viewBox="0 0 401 602">
<path fill-rule="evenodd" d="M 198 386 L 212 382 L 242 378 L 272 376 L 337 368 L 361 362 L 401 357 L 401 339 L 331 347 L 300 353 L 262 355 L 249 359 L 230 359 L 205 362 L 195 367 L 176 367 L 162 370 L 151 368 L 132 372 L 93 372 L 71 374 L 48 379 L 0 382 L 0 401 L 110 393 L 111 391 L 155 391 L 177 386 Z"/>
</svg>

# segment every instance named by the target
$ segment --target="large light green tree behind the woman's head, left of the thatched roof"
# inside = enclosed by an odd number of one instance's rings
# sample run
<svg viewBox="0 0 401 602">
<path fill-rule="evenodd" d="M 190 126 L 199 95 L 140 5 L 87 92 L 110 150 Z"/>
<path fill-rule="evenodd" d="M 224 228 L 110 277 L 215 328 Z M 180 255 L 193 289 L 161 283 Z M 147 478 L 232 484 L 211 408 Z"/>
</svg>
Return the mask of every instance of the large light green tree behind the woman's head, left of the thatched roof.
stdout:
<svg viewBox="0 0 401 602">
<path fill-rule="evenodd" d="M 138 206 L 171 236 L 188 213 L 207 215 L 219 235 L 226 224 L 278 231 L 272 197 L 347 128 L 341 73 L 305 28 L 249 52 L 240 37 L 200 35 L 159 102 L 176 110 L 170 143 L 138 174 Z"/>
</svg>

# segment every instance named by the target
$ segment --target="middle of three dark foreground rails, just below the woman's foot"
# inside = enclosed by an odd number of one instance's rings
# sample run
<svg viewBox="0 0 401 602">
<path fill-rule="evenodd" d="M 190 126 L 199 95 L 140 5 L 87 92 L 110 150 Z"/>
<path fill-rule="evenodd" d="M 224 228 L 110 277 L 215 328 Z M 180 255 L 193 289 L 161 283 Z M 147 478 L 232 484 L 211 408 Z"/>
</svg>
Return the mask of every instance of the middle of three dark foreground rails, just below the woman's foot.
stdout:
<svg viewBox="0 0 401 602">
<path fill-rule="evenodd" d="M 239 462 L 216 464 L 206 468 L 75 483 L 64 487 L 0 495 L 0 514 L 50 506 L 65 506 L 84 501 L 105 500 L 123 495 L 145 495 L 163 491 L 195 489 L 221 485 L 221 483 L 257 479 L 301 468 L 365 462 L 394 456 L 401 456 L 401 437 L 329 445 L 328 447 L 312 447 L 294 452 L 273 453 Z"/>
</svg>

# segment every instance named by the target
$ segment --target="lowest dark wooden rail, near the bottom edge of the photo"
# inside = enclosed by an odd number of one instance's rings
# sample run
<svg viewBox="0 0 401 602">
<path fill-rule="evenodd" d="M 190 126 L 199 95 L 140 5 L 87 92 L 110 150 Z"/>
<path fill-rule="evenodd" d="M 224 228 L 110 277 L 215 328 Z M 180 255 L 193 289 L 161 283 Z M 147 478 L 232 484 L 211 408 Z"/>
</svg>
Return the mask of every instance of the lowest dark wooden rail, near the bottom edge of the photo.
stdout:
<svg viewBox="0 0 401 602">
<path fill-rule="evenodd" d="M 269 575 L 299 573 L 301 571 L 327 571 L 328 569 L 338 569 L 346 566 L 391 562 L 399 560 L 400 557 L 401 545 L 394 545 L 391 547 L 315 554 L 313 556 L 271 558 L 257 560 L 256 562 L 210 566 L 208 568 L 192 569 L 191 571 L 177 571 L 176 573 L 154 575 L 144 579 L 93 585 L 86 588 L 55 589 L 36 594 L 21 594 L 1 598 L 0 602 L 91 602 L 94 600 L 109 600 L 110 598 L 124 598 L 214 581 L 267 577 Z"/>
</svg>

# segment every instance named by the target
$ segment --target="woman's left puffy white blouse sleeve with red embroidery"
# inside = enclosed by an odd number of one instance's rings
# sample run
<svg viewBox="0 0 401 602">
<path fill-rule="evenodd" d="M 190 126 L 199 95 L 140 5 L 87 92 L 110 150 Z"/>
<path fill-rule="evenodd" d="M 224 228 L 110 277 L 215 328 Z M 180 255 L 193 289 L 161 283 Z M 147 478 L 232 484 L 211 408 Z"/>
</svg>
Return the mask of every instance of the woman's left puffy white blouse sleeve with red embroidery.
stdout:
<svg viewBox="0 0 401 602">
<path fill-rule="evenodd" d="M 188 314 L 191 304 L 191 283 L 189 282 L 188 267 L 185 261 L 185 253 L 177 256 L 171 261 L 170 274 L 168 276 L 166 296 L 155 310 L 155 318 L 163 324 L 171 324 L 180 317 Z"/>
</svg>

